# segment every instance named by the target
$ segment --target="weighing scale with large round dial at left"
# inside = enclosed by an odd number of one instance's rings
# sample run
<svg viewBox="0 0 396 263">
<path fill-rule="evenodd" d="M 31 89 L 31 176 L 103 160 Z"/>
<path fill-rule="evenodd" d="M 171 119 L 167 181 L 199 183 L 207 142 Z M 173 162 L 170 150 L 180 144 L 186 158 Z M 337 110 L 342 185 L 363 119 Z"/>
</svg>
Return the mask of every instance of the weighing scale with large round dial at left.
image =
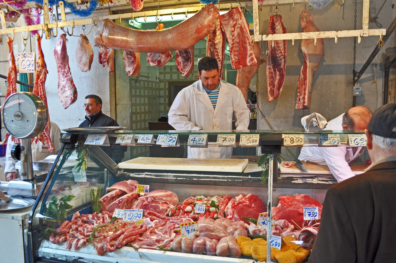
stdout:
<svg viewBox="0 0 396 263">
<path fill-rule="evenodd" d="M 11 154 L 15 160 L 21 160 L 21 177 L 8 183 L 7 193 L 34 198 L 44 180 L 34 179 L 30 138 L 39 135 L 46 127 L 48 110 L 44 101 L 34 93 L 17 92 L 4 101 L 2 117 L 8 133 L 21 140 L 20 147 L 14 145 Z"/>
</svg>

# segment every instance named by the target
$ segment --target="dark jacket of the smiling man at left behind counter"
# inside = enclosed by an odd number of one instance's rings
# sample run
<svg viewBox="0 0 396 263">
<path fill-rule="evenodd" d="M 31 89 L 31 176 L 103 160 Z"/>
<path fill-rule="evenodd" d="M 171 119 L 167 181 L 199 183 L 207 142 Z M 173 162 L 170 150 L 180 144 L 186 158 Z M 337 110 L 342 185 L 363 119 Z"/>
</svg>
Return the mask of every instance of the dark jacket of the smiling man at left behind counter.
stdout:
<svg viewBox="0 0 396 263">
<path fill-rule="evenodd" d="M 109 116 L 103 114 L 102 111 L 99 111 L 97 114 L 88 118 L 85 116 L 85 120 L 78 127 L 109 127 L 109 126 L 119 126 L 118 123 L 110 118 Z M 101 146 L 100 148 L 116 163 L 120 163 L 122 159 L 124 159 L 125 151 L 127 150 L 126 146 L 115 145 L 116 137 L 109 137 L 109 143 L 112 145 L 109 146 Z"/>
</svg>

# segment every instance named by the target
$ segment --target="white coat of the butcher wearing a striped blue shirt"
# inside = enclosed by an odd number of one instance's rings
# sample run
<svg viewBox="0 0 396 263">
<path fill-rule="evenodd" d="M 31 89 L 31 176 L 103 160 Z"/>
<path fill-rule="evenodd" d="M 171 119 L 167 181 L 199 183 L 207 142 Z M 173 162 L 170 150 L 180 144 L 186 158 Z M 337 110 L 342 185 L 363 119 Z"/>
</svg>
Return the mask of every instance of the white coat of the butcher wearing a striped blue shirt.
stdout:
<svg viewBox="0 0 396 263">
<path fill-rule="evenodd" d="M 249 113 L 239 88 L 223 80 L 220 80 L 219 97 L 213 109 L 201 80 L 198 80 L 177 94 L 168 113 L 168 122 L 176 130 L 228 131 L 232 130 L 232 116 L 234 116 L 236 130 L 247 130 Z M 231 156 L 231 147 L 188 147 L 188 158 L 231 158 Z"/>
</svg>

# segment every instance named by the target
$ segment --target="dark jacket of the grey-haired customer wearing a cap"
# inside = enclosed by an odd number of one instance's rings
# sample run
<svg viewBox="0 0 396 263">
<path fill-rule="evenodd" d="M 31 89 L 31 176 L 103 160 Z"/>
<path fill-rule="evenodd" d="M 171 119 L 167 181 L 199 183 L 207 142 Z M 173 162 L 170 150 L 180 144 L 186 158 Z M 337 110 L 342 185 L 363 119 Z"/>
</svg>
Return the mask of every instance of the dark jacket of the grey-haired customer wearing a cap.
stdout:
<svg viewBox="0 0 396 263">
<path fill-rule="evenodd" d="M 308 263 L 396 262 L 396 161 L 329 188 Z"/>
</svg>

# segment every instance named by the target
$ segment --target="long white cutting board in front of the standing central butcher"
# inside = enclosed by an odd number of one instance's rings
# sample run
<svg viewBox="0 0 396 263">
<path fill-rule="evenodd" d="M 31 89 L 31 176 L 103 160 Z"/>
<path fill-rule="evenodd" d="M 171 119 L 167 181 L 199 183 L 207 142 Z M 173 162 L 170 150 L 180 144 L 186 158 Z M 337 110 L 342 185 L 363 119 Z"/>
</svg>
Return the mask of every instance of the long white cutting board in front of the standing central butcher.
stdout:
<svg viewBox="0 0 396 263">
<path fill-rule="evenodd" d="M 242 172 L 247 159 L 187 159 L 138 157 L 118 164 L 120 169 Z"/>
</svg>

